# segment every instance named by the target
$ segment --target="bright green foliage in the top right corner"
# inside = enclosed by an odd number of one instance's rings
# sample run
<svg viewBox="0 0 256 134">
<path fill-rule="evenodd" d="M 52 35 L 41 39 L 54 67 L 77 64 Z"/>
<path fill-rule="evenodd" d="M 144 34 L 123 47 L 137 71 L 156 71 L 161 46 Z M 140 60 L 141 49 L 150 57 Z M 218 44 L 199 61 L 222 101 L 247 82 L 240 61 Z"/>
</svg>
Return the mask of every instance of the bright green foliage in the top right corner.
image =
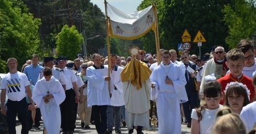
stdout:
<svg viewBox="0 0 256 134">
<path fill-rule="evenodd" d="M 256 12 L 253 1 L 236 1 L 234 5 L 226 5 L 223 12 L 223 20 L 229 28 L 226 43 L 230 49 L 235 48 L 241 39 L 250 39 L 255 33 Z"/>
</svg>

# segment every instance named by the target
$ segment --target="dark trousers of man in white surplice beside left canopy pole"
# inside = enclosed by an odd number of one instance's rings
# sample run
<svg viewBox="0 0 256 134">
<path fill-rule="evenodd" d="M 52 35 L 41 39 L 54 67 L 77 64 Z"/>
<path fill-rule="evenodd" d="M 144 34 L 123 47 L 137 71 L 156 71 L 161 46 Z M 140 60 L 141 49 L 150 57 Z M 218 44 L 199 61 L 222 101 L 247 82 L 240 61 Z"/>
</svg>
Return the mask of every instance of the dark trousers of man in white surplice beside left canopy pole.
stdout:
<svg viewBox="0 0 256 134">
<path fill-rule="evenodd" d="M 94 116 L 95 127 L 98 133 L 107 131 L 107 106 L 92 105 L 91 113 Z"/>
</svg>

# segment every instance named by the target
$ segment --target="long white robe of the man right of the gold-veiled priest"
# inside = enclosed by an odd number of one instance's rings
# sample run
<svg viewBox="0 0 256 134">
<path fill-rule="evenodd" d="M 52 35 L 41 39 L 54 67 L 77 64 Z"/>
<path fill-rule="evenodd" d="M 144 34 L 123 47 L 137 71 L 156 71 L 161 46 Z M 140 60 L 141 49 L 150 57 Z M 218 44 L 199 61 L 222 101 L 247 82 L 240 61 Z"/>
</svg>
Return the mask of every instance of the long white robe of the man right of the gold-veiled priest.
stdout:
<svg viewBox="0 0 256 134">
<path fill-rule="evenodd" d="M 173 85 L 166 84 L 166 75 Z M 156 86 L 152 96 L 157 99 L 158 133 L 181 133 L 179 93 L 187 83 L 184 70 L 178 64 L 161 62 L 150 75 L 150 81 Z"/>
</svg>

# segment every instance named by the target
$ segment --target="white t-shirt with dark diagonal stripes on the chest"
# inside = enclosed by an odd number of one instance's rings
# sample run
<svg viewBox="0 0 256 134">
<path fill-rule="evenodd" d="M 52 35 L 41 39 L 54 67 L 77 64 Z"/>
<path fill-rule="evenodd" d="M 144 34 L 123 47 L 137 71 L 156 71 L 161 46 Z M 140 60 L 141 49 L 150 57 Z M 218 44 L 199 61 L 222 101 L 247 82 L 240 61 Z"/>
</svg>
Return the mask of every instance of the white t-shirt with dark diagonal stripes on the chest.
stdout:
<svg viewBox="0 0 256 134">
<path fill-rule="evenodd" d="M 6 74 L 1 83 L 1 89 L 6 89 L 8 99 L 20 101 L 26 97 L 26 86 L 29 86 L 28 77 L 24 73 Z"/>
</svg>

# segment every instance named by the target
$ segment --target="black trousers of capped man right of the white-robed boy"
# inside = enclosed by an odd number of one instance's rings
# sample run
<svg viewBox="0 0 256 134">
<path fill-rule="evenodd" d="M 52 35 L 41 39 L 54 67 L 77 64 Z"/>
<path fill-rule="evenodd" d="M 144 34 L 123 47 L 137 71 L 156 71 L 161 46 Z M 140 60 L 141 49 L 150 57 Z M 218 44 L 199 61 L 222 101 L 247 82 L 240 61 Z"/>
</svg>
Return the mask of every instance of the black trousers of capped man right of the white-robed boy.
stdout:
<svg viewBox="0 0 256 134">
<path fill-rule="evenodd" d="M 74 103 L 75 103 L 75 91 L 73 89 L 66 90 L 66 98 L 61 103 L 61 128 L 64 131 L 75 130 L 75 116 Z"/>
</svg>

